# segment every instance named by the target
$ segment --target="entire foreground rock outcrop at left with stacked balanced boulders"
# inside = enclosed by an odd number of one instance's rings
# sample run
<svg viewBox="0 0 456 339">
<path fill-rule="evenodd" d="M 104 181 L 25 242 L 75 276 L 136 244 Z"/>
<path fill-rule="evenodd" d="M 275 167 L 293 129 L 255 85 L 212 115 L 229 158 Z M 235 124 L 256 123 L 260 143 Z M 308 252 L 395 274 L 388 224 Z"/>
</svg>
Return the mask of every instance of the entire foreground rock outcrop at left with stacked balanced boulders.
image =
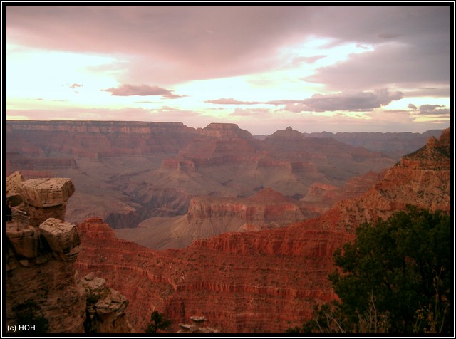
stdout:
<svg viewBox="0 0 456 339">
<path fill-rule="evenodd" d="M 63 220 L 64 208 L 53 208 L 73 194 L 71 179 L 24 180 L 14 173 L 6 178 L 6 192 L 18 191 L 17 207 L 28 213 L 15 210 L 5 225 L 9 333 L 24 334 L 24 327 L 33 333 L 130 333 L 125 297 L 103 286 L 103 303 L 90 303 L 93 286 L 76 271 L 78 231 Z"/>
</svg>

